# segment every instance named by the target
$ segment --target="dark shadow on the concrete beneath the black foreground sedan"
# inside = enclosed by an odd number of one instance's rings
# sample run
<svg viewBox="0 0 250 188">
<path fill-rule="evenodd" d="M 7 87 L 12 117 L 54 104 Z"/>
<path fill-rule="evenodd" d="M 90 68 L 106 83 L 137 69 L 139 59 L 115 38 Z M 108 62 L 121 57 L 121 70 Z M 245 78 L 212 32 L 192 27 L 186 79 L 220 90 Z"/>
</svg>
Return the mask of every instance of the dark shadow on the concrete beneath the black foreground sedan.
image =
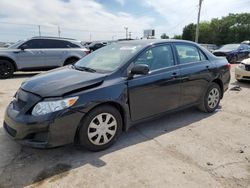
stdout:
<svg viewBox="0 0 250 188">
<path fill-rule="evenodd" d="M 213 116 L 217 112 L 207 114 L 196 108 L 190 108 L 137 124 L 123 133 L 112 147 L 101 152 L 82 150 L 73 145 L 54 149 L 22 147 L 19 154 L 4 168 L 0 178 L 0 187 L 15 187 L 16 185 L 23 187 L 34 183 L 41 185 L 47 178 L 59 179 L 67 176 L 69 170 L 87 164 L 102 168 L 106 162 L 101 158 L 107 154 L 153 140 L 186 126 L 192 129 L 194 127 L 192 123 Z"/>
</svg>

